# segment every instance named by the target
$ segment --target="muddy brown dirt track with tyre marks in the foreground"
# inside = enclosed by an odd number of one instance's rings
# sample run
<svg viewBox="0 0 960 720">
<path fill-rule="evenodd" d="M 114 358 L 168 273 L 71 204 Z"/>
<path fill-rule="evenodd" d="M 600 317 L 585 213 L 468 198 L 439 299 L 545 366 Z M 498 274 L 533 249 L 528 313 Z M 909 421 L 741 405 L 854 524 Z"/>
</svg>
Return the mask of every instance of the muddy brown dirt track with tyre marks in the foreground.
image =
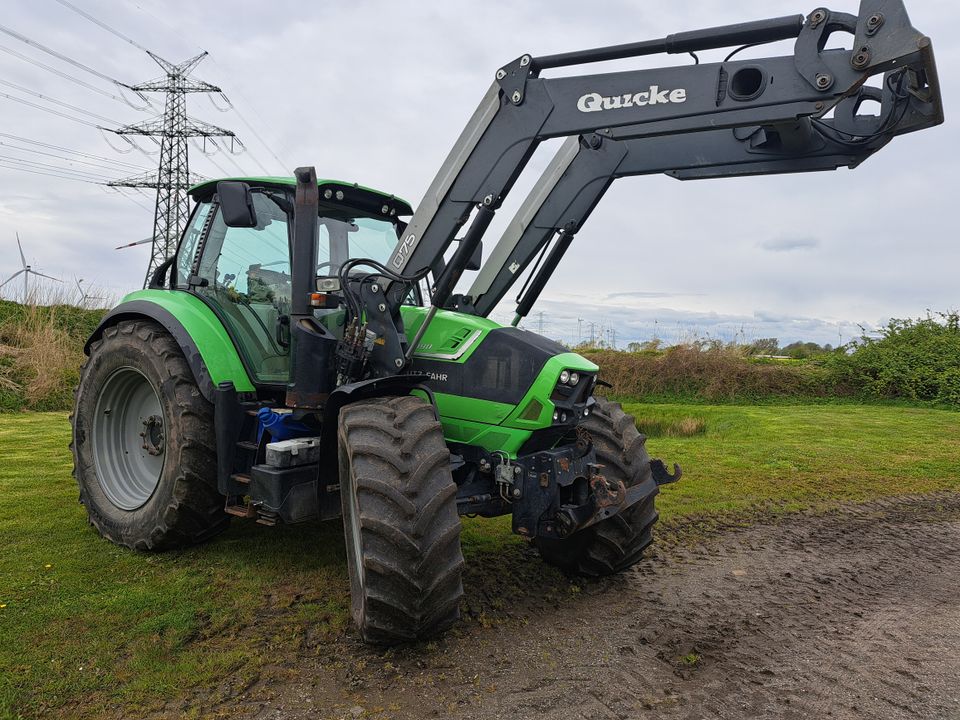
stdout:
<svg viewBox="0 0 960 720">
<path fill-rule="evenodd" d="M 257 718 L 960 718 L 960 495 L 661 529 L 619 578 L 527 550 L 466 579 L 453 636 L 305 648 L 229 705 Z M 518 588 L 543 588 L 537 595 Z"/>
</svg>

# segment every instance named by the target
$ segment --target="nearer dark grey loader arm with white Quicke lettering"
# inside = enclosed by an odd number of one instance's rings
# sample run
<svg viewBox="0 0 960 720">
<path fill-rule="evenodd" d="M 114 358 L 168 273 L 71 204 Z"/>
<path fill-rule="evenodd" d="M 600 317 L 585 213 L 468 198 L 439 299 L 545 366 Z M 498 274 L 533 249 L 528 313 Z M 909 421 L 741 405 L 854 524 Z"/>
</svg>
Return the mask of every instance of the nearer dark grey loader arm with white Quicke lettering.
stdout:
<svg viewBox="0 0 960 720">
<path fill-rule="evenodd" d="M 853 36 L 852 49 L 825 49 L 837 32 Z M 550 68 L 786 39 L 795 39 L 791 55 L 540 77 Z M 385 282 L 394 318 L 409 291 L 406 281 L 396 278 L 417 278 L 433 269 L 436 280 L 429 314 L 407 345 L 406 361 L 433 314 L 447 305 L 496 210 L 540 142 L 589 133 L 613 140 L 653 138 L 820 118 L 871 76 L 901 68 L 907 78 L 902 92 L 929 105 L 928 124 L 940 122 L 932 46 L 910 24 L 902 0 L 862 0 L 858 15 L 819 8 L 806 18 L 774 18 L 561 55 L 523 55 L 500 68 L 387 263 L 395 275 Z M 457 250 L 444 264 L 444 253 L 471 215 Z M 398 334 L 401 330 L 398 325 Z M 404 365 L 376 349 L 371 361 L 381 374 Z"/>
</svg>

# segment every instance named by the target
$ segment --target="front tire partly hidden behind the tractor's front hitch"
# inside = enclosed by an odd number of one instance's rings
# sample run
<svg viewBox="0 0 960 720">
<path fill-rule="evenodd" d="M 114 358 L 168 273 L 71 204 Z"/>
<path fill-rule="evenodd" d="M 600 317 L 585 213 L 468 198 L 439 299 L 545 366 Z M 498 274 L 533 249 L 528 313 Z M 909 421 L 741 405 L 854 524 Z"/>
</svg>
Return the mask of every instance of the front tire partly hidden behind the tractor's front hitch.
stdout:
<svg viewBox="0 0 960 720">
<path fill-rule="evenodd" d="M 590 433 L 601 472 L 627 487 L 649 482 L 652 477 L 646 437 L 636 423 L 615 403 L 597 398 L 593 412 L 580 424 Z M 540 556 L 572 575 L 612 575 L 635 565 L 653 541 L 657 521 L 654 490 L 647 498 L 623 512 L 592 525 L 569 538 L 538 538 Z"/>
</svg>

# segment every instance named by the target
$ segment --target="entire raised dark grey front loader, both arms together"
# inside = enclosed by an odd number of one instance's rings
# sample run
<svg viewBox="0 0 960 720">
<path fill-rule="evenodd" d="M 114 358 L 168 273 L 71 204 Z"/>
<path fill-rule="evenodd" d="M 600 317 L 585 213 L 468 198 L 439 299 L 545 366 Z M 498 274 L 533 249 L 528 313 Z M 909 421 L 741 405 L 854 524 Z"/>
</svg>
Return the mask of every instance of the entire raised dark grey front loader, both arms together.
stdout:
<svg viewBox="0 0 960 720">
<path fill-rule="evenodd" d="M 851 49 L 825 49 L 834 33 L 851 36 Z M 551 68 L 787 39 L 795 39 L 792 55 L 736 60 L 733 53 L 719 63 L 540 77 Z M 874 76 L 883 77 L 882 87 L 866 84 Z M 867 101 L 880 102 L 879 116 L 859 113 Z M 434 312 L 453 306 L 487 314 L 559 232 L 562 237 L 529 288 L 534 292 L 528 290 L 530 301 L 536 298 L 615 177 L 665 172 L 691 179 L 853 167 L 892 137 L 942 121 L 932 45 L 912 27 L 902 0 L 862 0 L 857 15 L 818 8 L 806 17 L 560 55 L 523 55 L 497 71 L 388 267 L 407 277 L 431 270 Z M 557 137 L 574 139 L 521 208 L 518 224 L 488 261 L 491 267 L 468 296 L 454 297 L 453 288 L 537 146 Z M 444 253 L 471 216 L 456 252 L 444 263 Z M 534 237 L 541 229 L 544 234 Z M 406 289 L 402 283 L 392 289 L 396 307 Z M 431 318 L 406 345 L 408 358 Z M 393 362 L 376 355 L 375 365 Z"/>
</svg>

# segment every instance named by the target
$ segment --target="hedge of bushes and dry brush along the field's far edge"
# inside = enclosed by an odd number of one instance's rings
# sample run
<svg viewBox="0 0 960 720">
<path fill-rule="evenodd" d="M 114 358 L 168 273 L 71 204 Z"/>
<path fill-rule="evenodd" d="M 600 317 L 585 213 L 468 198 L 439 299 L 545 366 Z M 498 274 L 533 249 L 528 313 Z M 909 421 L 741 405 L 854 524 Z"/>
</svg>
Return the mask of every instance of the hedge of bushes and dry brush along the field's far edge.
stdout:
<svg viewBox="0 0 960 720">
<path fill-rule="evenodd" d="M 0 410 L 56 410 L 72 404 L 83 343 L 104 310 L 0 300 Z M 764 341 L 769 349 L 774 339 Z M 813 351 L 813 344 L 795 343 Z M 790 347 L 790 346 L 788 346 Z M 578 350 L 600 365 L 613 392 L 634 398 L 711 402 L 858 397 L 935 402 L 960 408 L 960 315 L 891 320 L 879 338 L 814 359 L 753 358 L 749 346 L 695 341 L 637 352 Z M 663 429 L 664 433 L 674 432 Z M 676 432 L 681 432 L 676 430 Z"/>
</svg>

